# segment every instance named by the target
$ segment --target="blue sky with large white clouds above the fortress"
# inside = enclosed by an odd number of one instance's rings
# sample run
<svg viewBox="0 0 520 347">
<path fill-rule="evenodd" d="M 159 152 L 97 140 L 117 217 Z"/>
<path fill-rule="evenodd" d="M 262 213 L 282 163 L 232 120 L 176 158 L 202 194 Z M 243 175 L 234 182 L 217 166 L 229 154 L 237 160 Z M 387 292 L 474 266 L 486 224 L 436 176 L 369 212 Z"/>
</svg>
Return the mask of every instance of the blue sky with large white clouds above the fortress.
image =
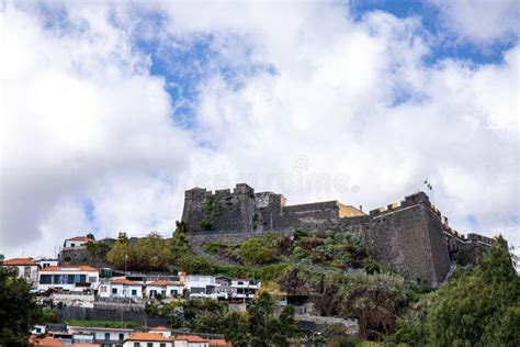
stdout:
<svg viewBox="0 0 520 347">
<path fill-rule="evenodd" d="M 520 3 L 0 1 L 0 254 L 171 235 L 184 190 L 425 190 L 520 246 Z"/>
</svg>

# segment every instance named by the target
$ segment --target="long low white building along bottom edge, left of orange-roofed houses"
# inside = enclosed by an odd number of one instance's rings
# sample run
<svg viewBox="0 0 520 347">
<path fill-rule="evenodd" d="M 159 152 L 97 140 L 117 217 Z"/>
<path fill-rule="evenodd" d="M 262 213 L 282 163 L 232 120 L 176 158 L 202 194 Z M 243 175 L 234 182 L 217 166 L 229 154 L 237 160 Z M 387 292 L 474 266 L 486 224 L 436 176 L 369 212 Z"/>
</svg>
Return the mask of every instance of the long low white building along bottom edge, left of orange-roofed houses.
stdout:
<svg viewBox="0 0 520 347">
<path fill-rule="evenodd" d="M 76 340 L 81 338 L 87 339 L 90 335 L 93 337 L 93 343 L 102 344 L 103 346 L 121 346 L 121 344 L 123 344 L 123 342 L 133 333 L 133 329 L 69 325 L 68 332 L 72 334 L 72 339 Z"/>
</svg>

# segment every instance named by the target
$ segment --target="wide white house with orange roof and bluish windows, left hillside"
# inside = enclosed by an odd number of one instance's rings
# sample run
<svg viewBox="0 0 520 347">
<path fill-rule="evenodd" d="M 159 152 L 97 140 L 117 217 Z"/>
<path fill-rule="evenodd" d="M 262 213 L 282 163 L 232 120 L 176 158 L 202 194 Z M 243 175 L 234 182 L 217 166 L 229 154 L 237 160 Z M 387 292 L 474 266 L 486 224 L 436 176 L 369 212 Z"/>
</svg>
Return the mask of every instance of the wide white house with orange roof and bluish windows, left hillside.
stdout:
<svg viewBox="0 0 520 347">
<path fill-rule="evenodd" d="M 49 266 L 39 270 L 38 290 L 49 288 L 68 291 L 98 289 L 99 271 L 88 265 Z"/>
</svg>

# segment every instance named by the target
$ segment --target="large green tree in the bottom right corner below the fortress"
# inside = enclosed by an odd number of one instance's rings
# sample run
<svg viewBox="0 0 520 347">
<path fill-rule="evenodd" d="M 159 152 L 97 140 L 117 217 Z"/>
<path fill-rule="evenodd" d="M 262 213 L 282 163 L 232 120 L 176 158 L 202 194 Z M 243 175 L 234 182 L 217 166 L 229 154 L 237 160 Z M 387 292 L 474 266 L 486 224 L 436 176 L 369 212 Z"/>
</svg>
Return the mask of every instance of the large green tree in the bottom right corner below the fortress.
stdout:
<svg viewBox="0 0 520 347">
<path fill-rule="evenodd" d="M 520 346 L 520 277 L 499 237 L 487 256 L 433 294 L 428 337 L 439 346 Z"/>
</svg>

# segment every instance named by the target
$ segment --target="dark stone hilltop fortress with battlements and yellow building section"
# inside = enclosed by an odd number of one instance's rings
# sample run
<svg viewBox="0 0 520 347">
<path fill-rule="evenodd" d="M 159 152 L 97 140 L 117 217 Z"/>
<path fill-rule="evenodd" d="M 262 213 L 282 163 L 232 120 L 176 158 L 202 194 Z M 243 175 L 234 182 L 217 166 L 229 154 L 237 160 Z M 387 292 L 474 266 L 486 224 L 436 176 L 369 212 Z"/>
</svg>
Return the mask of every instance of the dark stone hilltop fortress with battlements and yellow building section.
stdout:
<svg viewBox="0 0 520 347">
<path fill-rule="evenodd" d="M 371 256 L 396 269 L 405 279 L 439 286 L 453 261 L 468 264 L 493 243 L 478 235 L 457 233 L 448 219 L 418 192 L 364 213 L 338 201 L 286 205 L 274 192 L 237 184 L 214 193 L 202 188 L 185 191 L 182 221 L 189 237 L 244 239 L 265 232 L 347 231 L 362 235 Z"/>
</svg>

